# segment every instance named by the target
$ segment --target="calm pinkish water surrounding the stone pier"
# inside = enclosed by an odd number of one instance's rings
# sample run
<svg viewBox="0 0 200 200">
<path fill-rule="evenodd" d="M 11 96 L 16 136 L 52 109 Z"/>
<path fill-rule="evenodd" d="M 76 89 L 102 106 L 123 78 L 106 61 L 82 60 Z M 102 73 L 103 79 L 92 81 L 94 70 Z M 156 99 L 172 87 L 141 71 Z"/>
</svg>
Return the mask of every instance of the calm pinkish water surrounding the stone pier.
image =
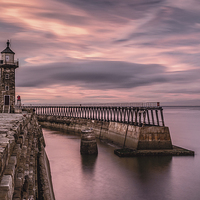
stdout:
<svg viewBox="0 0 200 200">
<path fill-rule="evenodd" d="M 174 145 L 195 157 L 119 158 L 98 142 L 97 157 L 80 155 L 80 138 L 43 129 L 56 200 L 199 200 L 200 107 L 164 108 Z"/>
</svg>

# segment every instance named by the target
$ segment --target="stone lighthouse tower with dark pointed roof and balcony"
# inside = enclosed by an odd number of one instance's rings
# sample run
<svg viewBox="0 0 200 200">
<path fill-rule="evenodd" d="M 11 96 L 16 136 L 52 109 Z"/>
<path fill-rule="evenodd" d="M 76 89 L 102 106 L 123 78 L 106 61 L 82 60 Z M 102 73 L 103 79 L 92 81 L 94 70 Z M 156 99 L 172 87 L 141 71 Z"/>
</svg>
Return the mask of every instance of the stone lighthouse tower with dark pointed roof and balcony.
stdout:
<svg viewBox="0 0 200 200">
<path fill-rule="evenodd" d="M 8 40 L 0 60 L 0 112 L 3 113 L 15 111 L 15 69 L 19 65 L 18 61 L 14 60 L 14 55 Z"/>
</svg>

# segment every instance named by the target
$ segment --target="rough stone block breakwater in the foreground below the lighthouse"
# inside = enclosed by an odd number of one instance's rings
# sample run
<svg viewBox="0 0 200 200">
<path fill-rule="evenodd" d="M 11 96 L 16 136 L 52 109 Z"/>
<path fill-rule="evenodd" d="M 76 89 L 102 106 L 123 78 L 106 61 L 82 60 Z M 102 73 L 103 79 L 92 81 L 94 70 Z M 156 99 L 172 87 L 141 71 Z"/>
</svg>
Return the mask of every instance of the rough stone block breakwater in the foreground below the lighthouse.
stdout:
<svg viewBox="0 0 200 200">
<path fill-rule="evenodd" d="M 54 198 L 42 129 L 36 116 L 0 113 L 0 199 Z"/>
</svg>

